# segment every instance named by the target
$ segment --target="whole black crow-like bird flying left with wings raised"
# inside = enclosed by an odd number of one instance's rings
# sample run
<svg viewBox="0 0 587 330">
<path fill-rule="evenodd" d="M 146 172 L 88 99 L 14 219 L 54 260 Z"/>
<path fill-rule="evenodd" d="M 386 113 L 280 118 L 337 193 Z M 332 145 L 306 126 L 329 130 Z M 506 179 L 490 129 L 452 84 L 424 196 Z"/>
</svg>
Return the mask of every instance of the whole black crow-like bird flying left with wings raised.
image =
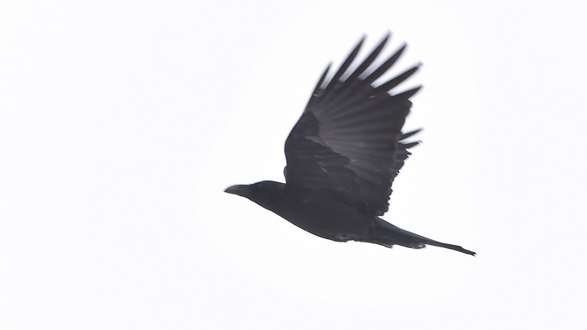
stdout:
<svg viewBox="0 0 587 330">
<path fill-rule="evenodd" d="M 408 149 L 419 143 L 406 142 L 419 130 L 402 133 L 402 126 L 410 112 L 409 99 L 420 87 L 388 93 L 418 66 L 373 86 L 406 47 L 372 68 L 388 39 L 389 33 L 353 71 L 349 66 L 365 37 L 329 80 L 326 76 L 330 65 L 326 68 L 285 141 L 286 183 L 261 181 L 225 191 L 246 197 L 328 240 L 389 248 L 394 244 L 409 248 L 429 244 L 475 255 L 458 245 L 410 233 L 379 218 L 389 208 L 392 183 L 411 154 Z"/>
</svg>

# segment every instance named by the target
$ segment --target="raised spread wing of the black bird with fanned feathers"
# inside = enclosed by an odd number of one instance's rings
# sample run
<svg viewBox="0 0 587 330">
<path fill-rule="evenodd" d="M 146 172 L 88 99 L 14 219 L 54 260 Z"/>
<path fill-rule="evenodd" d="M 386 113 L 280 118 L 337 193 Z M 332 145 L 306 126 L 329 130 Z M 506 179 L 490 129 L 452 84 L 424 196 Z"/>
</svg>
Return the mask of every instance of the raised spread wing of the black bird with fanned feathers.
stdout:
<svg viewBox="0 0 587 330">
<path fill-rule="evenodd" d="M 409 98 L 420 87 L 390 95 L 417 66 L 373 87 L 402 54 L 405 45 L 381 66 L 370 68 L 389 39 L 389 34 L 352 72 L 349 66 L 365 38 L 352 50 L 329 81 L 328 68 L 318 81 L 302 117 L 285 142 L 289 187 L 312 188 L 331 194 L 345 204 L 372 215 L 389 208 L 392 183 L 417 144 L 404 139 L 417 131 L 402 134 L 410 111 Z"/>
</svg>

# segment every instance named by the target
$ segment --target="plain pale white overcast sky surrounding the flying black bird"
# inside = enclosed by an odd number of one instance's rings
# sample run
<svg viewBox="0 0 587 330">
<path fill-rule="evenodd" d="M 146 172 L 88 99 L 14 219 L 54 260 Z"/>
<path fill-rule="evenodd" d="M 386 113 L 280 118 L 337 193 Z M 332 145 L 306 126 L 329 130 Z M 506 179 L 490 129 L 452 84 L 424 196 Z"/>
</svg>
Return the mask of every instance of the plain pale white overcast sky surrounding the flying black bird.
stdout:
<svg viewBox="0 0 587 330">
<path fill-rule="evenodd" d="M 3 1 L 0 328 L 585 329 L 584 1 Z M 282 181 L 323 68 L 409 43 L 399 227 L 334 243 Z"/>
</svg>

